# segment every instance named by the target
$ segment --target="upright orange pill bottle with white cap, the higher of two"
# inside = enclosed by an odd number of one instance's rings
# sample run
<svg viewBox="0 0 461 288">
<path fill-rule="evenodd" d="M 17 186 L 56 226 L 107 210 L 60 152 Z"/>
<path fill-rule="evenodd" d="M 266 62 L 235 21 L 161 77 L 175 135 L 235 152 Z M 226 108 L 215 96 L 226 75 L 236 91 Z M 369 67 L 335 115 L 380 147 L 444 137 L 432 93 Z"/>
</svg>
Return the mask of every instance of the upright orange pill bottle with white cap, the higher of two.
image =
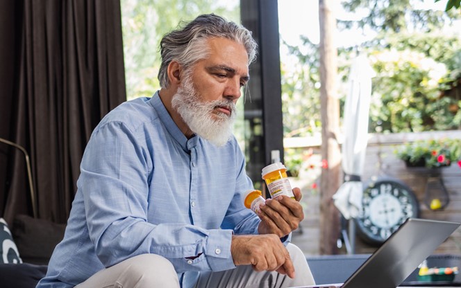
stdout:
<svg viewBox="0 0 461 288">
<path fill-rule="evenodd" d="M 262 168 L 262 179 L 266 181 L 269 194 L 272 198 L 286 195 L 294 199 L 290 180 L 288 180 L 287 168 L 280 162 L 272 163 Z"/>
</svg>

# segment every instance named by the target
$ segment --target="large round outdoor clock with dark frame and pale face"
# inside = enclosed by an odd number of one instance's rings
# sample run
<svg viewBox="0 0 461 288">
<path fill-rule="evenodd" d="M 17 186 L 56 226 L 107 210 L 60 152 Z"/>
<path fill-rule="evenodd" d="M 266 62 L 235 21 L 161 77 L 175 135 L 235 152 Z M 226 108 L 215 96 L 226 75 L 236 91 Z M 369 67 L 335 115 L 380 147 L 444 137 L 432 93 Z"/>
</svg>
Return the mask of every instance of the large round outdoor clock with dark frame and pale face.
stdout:
<svg viewBox="0 0 461 288">
<path fill-rule="evenodd" d="M 358 234 L 373 244 L 383 243 L 407 218 L 418 217 L 413 192 L 397 180 L 378 180 L 365 188 L 362 210 L 355 219 Z"/>
</svg>

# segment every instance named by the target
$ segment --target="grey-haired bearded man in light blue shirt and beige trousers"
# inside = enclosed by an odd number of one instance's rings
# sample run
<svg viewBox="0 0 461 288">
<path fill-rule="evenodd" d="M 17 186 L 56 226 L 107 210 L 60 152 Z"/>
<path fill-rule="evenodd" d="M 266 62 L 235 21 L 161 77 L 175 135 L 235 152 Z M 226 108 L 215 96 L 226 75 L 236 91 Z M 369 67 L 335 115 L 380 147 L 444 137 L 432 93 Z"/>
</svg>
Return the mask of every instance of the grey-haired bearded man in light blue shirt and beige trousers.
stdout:
<svg viewBox="0 0 461 288">
<path fill-rule="evenodd" d="M 163 37 L 162 88 L 94 129 L 65 237 L 37 287 L 313 284 L 287 244 L 301 191 L 268 199 L 259 215 L 243 204 L 253 185 L 231 127 L 255 49 L 246 28 L 217 15 Z"/>
</svg>

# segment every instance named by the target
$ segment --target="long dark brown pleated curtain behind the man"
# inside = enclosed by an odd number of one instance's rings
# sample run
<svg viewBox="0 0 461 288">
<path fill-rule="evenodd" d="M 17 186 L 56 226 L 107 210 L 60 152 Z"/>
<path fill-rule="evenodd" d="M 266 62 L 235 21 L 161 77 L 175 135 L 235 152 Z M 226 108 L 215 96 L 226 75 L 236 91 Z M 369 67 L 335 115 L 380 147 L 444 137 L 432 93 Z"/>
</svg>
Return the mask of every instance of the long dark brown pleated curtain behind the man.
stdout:
<svg viewBox="0 0 461 288">
<path fill-rule="evenodd" d="M 92 129 L 124 100 L 119 0 L 0 1 L 0 137 L 31 156 L 40 218 L 67 221 Z M 0 217 L 17 214 L 24 156 L 0 143 Z"/>
</svg>

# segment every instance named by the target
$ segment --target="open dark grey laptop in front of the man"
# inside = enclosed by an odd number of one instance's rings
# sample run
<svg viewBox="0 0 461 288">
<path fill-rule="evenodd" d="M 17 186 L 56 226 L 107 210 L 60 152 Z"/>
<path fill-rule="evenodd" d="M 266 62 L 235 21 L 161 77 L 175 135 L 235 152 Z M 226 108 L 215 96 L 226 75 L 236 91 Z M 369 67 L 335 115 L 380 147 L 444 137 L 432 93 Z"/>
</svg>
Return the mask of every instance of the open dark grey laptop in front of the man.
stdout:
<svg viewBox="0 0 461 288">
<path fill-rule="evenodd" d="M 408 218 L 344 284 L 292 288 L 397 287 L 460 225 L 457 222 Z"/>
</svg>

